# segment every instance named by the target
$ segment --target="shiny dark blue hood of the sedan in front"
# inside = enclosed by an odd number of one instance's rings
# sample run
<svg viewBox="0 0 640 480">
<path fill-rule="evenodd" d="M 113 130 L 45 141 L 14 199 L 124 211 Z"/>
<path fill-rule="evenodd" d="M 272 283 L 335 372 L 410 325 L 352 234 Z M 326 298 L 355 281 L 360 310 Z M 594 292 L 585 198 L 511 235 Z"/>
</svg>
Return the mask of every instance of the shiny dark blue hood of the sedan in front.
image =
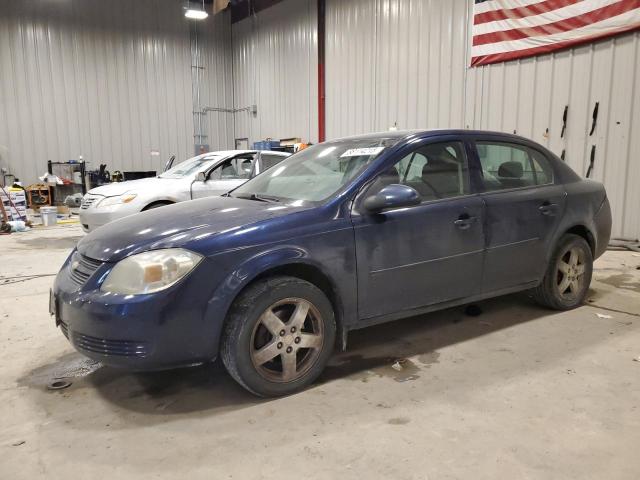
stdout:
<svg viewBox="0 0 640 480">
<path fill-rule="evenodd" d="M 77 248 L 105 262 L 159 248 L 184 247 L 206 254 L 199 246 L 216 235 L 237 234 L 257 222 L 307 208 L 231 197 L 191 200 L 111 222 L 80 240 Z"/>
</svg>

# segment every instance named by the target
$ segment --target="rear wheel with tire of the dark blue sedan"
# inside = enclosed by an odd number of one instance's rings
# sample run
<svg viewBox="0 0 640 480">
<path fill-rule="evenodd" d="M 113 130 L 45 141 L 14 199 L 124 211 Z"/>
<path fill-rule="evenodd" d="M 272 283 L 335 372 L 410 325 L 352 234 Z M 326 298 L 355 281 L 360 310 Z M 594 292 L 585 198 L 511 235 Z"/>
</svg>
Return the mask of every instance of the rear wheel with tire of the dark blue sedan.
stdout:
<svg viewBox="0 0 640 480">
<path fill-rule="evenodd" d="M 592 273 L 593 254 L 586 240 L 574 234 L 563 235 L 542 282 L 533 289 L 533 298 L 554 310 L 579 307 L 589 291 Z"/>
</svg>

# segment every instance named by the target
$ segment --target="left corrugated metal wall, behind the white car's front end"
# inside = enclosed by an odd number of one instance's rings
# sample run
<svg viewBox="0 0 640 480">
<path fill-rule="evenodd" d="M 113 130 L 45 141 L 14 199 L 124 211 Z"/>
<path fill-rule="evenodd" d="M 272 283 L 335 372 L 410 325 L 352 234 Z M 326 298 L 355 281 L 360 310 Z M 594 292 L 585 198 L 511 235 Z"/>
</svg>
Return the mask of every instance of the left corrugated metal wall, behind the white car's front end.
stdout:
<svg viewBox="0 0 640 480">
<path fill-rule="evenodd" d="M 171 154 L 191 156 L 190 34 L 181 9 L 171 0 L 0 0 L 0 165 L 30 183 L 48 159 L 83 155 L 114 171 L 159 170 Z M 229 18 L 202 25 L 203 96 L 231 105 L 231 62 L 221 54 Z M 228 147 L 231 119 L 209 115 L 212 147 Z"/>
</svg>

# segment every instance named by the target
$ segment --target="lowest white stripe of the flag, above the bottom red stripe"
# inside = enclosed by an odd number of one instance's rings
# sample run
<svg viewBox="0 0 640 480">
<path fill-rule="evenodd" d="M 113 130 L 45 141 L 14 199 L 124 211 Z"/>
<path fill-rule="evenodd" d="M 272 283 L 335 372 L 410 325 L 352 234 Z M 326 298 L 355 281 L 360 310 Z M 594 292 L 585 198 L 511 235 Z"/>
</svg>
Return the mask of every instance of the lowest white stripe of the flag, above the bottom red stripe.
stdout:
<svg viewBox="0 0 640 480">
<path fill-rule="evenodd" d="M 565 41 L 575 40 L 581 37 L 591 37 L 593 34 L 619 31 L 620 28 L 628 25 L 637 25 L 640 22 L 640 9 L 634 9 L 587 27 L 576 28 L 568 32 L 545 35 L 540 37 L 530 37 L 521 40 L 507 40 L 504 42 L 489 43 L 471 47 L 471 56 L 491 55 L 495 53 L 510 52 L 513 50 L 527 51 L 538 46 L 554 45 Z"/>
</svg>

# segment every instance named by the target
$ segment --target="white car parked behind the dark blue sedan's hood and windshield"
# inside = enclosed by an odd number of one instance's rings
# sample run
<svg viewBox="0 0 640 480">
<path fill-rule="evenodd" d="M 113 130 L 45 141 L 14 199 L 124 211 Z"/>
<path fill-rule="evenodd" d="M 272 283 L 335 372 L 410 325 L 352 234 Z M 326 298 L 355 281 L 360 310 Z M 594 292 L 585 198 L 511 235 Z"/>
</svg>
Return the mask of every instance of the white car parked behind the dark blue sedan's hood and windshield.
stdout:
<svg viewBox="0 0 640 480">
<path fill-rule="evenodd" d="M 222 195 L 290 154 L 274 151 L 209 152 L 179 163 L 152 178 L 110 183 L 87 192 L 80 223 L 90 232 L 113 220 L 176 202 Z"/>
</svg>

